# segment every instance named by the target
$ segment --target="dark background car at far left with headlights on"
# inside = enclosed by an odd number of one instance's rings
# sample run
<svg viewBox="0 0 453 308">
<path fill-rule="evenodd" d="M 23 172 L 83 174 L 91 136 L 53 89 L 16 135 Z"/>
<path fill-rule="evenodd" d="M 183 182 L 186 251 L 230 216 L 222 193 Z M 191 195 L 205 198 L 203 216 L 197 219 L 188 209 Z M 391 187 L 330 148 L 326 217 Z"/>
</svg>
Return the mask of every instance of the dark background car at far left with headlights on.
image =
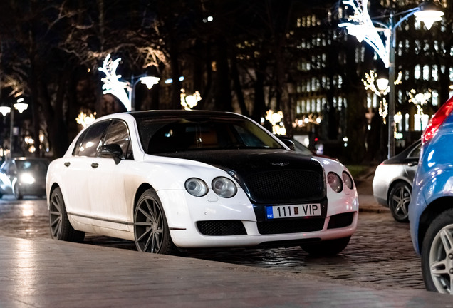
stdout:
<svg viewBox="0 0 453 308">
<path fill-rule="evenodd" d="M 17 200 L 24 195 L 46 195 L 46 158 L 13 158 L 0 167 L 0 197 L 14 194 Z"/>
</svg>

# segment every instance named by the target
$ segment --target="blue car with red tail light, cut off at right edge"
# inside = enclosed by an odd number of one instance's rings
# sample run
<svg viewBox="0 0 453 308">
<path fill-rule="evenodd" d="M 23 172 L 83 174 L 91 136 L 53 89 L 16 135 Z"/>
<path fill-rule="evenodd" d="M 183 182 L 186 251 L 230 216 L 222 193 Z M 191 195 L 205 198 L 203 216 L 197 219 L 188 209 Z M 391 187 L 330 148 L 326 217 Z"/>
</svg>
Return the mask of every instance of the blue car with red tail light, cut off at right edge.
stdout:
<svg viewBox="0 0 453 308">
<path fill-rule="evenodd" d="M 422 134 L 409 220 L 426 288 L 453 294 L 453 97 Z"/>
</svg>

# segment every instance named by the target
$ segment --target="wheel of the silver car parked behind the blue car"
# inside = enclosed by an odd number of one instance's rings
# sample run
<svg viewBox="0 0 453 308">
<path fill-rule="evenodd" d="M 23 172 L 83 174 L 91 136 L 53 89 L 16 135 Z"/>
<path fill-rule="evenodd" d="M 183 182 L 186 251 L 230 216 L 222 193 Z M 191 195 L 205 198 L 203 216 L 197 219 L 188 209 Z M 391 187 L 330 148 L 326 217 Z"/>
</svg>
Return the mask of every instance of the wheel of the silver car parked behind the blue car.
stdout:
<svg viewBox="0 0 453 308">
<path fill-rule="evenodd" d="M 399 182 L 393 186 L 388 195 L 388 207 L 392 213 L 393 219 L 397 222 L 409 222 L 409 203 L 411 197 L 409 184 Z"/>
</svg>

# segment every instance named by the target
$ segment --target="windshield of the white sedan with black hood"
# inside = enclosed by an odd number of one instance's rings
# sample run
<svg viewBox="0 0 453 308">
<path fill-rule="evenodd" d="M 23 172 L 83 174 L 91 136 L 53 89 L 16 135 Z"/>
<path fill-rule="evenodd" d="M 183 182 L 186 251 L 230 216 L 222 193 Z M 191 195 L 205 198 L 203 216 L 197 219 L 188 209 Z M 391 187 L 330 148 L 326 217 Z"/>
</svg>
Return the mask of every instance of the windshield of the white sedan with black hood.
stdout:
<svg viewBox="0 0 453 308">
<path fill-rule="evenodd" d="M 187 150 L 283 147 L 259 125 L 245 118 L 177 117 L 137 120 L 148 154 Z"/>
</svg>

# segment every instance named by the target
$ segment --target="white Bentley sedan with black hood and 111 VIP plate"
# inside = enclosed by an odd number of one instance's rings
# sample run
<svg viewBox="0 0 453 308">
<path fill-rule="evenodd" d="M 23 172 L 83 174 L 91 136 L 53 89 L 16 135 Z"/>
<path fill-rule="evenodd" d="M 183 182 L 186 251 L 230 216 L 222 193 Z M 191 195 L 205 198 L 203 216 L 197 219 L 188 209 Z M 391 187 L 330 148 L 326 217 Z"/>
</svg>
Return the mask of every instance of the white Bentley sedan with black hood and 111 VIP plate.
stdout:
<svg viewBox="0 0 453 308">
<path fill-rule="evenodd" d="M 358 195 L 338 161 L 289 150 L 236 113 L 104 116 L 48 168 L 51 235 L 133 240 L 137 250 L 301 246 L 342 251 Z"/>
</svg>

